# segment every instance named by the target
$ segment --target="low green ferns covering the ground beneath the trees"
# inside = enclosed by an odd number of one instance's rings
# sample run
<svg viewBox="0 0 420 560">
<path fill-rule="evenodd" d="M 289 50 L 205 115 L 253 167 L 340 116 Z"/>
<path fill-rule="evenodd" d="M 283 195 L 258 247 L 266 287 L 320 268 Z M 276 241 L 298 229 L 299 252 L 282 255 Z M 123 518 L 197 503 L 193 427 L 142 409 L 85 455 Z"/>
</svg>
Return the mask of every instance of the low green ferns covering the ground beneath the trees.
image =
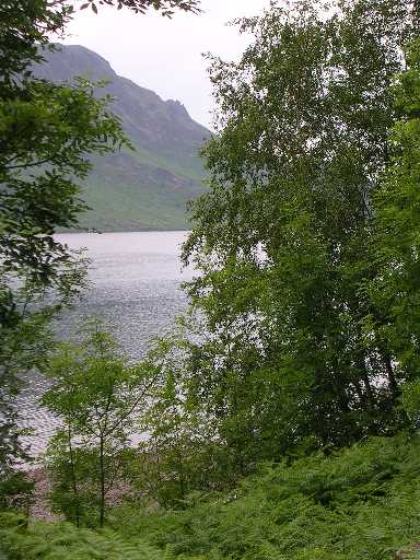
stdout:
<svg viewBox="0 0 420 560">
<path fill-rule="evenodd" d="M 418 436 L 377 438 L 329 456 L 261 468 L 234 491 L 190 495 L 183 512 L 114 513 L 114 530 L 3 516 L 10 560 L 389 559 L 418 541 Z M 9 527 L 7 524 L 10 524 Z"/>
</svg>

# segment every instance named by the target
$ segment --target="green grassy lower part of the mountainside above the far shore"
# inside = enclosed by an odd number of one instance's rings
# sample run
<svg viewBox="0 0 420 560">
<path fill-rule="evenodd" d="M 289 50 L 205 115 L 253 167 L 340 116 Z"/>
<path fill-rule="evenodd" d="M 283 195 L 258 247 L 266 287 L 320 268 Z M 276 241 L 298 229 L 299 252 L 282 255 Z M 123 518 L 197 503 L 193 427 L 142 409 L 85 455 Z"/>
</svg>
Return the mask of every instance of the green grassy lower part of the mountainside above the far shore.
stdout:
<svg viewBox="0 0 420 560">
<path fill-rule="evenodd" d="M 90 210 L 80 215 L 80 225 L 104 232 L 190 229 L 187 202 L 205 187 L 198 159 L 191 158 L 190 167 L 187 163 L 141 149 L 118 165 L 95 160 L 82 194 Z"/>
</svg>

